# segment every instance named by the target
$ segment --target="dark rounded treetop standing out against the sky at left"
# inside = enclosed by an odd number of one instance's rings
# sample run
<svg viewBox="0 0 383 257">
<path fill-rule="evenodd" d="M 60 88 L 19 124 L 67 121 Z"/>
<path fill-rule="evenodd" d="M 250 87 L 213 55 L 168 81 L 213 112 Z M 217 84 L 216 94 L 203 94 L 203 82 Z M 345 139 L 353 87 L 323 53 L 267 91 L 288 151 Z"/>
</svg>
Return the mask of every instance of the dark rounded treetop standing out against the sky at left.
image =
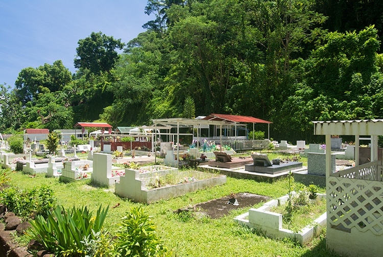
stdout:
<svg viewBox="0 0 383 257">
<path fill-rule="evenodd" d="M 80 39 L 78 44 L 75 67 L 89 69 L 93 74 L 111 74 L 110 71 L 118 58 L 116 49 L 122 50 L 124 47 L 121 39 L 114 39 L 101 31 L 92 32 L 89 37 Z"/>
</svg>

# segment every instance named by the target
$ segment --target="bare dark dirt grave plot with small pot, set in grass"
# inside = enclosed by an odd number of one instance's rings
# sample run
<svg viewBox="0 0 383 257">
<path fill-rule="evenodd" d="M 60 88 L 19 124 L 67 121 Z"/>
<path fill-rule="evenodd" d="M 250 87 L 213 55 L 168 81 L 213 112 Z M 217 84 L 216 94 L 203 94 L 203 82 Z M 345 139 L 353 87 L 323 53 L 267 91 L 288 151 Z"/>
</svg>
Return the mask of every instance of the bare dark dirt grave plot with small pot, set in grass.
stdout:
<svg viewBox="0 0 383 257">
<path fill-rule="evenodd" d="M 212 219 L 218 219 L 228 215 L 230 211 L 238 208 L 253 206 L 261 201 L 268 201 L 269 197 L 262 195 L 255 195 L 250 193 L 237 193 L 235 194 L 238 205 L 228 204 L 229 196 L 213 199 L 207 202 L 198 203 L 195 206 L 201 209 L 201 213 L 209 216 Z"/>
</svg>

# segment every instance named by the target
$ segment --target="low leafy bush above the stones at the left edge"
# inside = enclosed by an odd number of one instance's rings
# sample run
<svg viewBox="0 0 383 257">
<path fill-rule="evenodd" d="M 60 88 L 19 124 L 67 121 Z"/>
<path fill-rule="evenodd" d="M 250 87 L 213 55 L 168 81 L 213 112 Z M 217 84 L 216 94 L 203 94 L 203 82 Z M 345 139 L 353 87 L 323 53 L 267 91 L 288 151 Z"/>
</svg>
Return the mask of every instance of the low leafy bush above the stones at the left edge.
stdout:
<svg viewBox="0 0 383 257">
<path fill-rule="evenodd" d="M 52 211 L 56 204 L 52 189 L 46 185 L 30 190 L 10 186 L 0 192 L 0 199 L 8 211 L 27 218 L 34 218 L 37 215 L 46 217 L 46 212 Z"/>
</svg>

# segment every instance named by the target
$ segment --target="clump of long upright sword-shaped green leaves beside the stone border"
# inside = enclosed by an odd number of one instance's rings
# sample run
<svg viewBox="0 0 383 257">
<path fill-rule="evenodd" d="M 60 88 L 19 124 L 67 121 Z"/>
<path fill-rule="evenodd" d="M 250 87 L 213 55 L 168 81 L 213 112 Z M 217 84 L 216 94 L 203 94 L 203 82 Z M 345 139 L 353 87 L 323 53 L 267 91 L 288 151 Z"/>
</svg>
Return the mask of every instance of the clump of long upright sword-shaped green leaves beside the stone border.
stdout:
<svg viewBox="0 0 383 257">
<path fill-rule="evenodd" d="M 46 219 L 38 215 L 30 221 L 33 229 L 28 236 L 56 255 L 83 256 L 87 247 L 84 239 L 97 240 L 108 209 L 109 206 L 105 209 L 100 205 L 96 216 L 92 216 L 86 206 L 67 211 L 58 205 L 53 214 L 47 213 Z"/>
</svg>

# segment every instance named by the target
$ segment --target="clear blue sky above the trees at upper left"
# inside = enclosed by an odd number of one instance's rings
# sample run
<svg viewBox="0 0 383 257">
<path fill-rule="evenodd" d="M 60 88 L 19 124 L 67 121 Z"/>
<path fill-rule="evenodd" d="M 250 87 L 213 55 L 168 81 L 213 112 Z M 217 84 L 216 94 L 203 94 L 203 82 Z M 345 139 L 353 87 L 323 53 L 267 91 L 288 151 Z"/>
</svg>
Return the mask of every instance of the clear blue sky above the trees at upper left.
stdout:
<svg viewBox="0 0 383 257">
<path fill-rule="evenodd" d="M 0 0 L 0 84 L 14 86 L 21 69 L 62 60 L 76 71 L 77 42 L 91 32 L 127 43 L 153 17 L 147 0 Z"/>
</svg>

